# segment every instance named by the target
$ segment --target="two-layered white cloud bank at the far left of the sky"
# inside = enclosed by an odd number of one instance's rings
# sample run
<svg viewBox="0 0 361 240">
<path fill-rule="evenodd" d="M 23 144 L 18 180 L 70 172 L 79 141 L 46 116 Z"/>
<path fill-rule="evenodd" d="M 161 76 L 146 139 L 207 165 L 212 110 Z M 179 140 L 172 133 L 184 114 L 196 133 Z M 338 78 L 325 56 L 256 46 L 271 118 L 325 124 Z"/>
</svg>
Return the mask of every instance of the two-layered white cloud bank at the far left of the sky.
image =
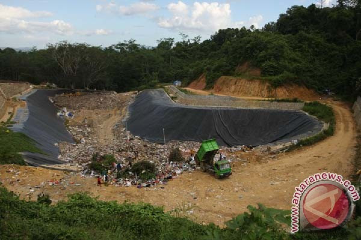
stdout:
<svg viewBox="0 0 361 240">
<path fill-rule="evenodd" d="M 60 35 L 73 33 L 71 24 L 62 20 L 53 20 L 51 22 L 25 20 L 27 18 L 49 17 L 51 15 L 49 12 L 31 12 L 24 8 L 0 5 L 0 32 L 53 32 Z"/>
</svg>

